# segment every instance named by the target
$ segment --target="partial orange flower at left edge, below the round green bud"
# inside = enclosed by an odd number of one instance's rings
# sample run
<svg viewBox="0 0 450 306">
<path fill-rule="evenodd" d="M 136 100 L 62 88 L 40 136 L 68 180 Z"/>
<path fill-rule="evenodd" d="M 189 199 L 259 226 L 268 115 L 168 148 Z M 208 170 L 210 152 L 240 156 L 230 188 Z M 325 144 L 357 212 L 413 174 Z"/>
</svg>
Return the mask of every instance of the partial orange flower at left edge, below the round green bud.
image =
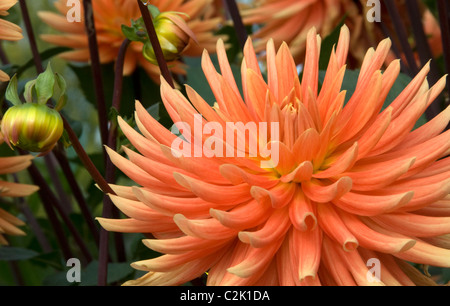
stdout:
<svg viewBox="0 0 450 306">
<path fill-rule="evenodd" d="M 31 164 L 33 156 L 22 155 L 13 157 L 0 157 L 0 174 L 10 174 L 21 171 Z M 12 183 L 0 180 L 0 197 L 25 197 L 38 189 L 34 185 Z M 3 234 L 25 235 L 17 226 L 24 225 L 19 218 L 0 208 L 0 245 L 8 244 Z"/>
</svg>

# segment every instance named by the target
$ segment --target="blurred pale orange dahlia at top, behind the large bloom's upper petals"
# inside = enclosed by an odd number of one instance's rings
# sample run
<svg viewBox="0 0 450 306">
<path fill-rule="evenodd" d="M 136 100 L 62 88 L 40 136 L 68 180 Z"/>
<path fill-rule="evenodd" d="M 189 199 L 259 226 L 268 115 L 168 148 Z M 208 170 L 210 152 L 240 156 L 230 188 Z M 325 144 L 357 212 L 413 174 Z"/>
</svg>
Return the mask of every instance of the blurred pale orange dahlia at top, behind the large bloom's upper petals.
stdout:
<svg viewBox="0 0 450 306">
<path fill-rule="evenodd" d="M 294 61 L 300 64 L 305 57 L 306 36 L 311 27 L 326 37 L 343 20 L 351 28 L 350 56 L 362 60 L 367 42 L 361 43 L 364 16 L 352 0 L 255 0 L 241 9 L 243 22 L 256 25 L 252 38 L 257 53 L 264 51 L 267 41 L 275 47 L 286 42 Z"/>
</svg>

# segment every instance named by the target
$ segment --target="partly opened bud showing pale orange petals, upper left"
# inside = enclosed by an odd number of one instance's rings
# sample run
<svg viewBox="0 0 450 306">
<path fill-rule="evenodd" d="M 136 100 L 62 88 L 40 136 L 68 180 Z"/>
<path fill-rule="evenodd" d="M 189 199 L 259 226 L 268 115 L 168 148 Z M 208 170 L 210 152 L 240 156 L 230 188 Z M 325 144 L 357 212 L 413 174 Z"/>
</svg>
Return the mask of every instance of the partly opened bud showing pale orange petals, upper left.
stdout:
<svg viewBox="0 0 450 306">
<path fill-rule="evenodd" d="M 163 12 L 153 19 L 155 32 L 161 45 L 164 59 L 168 62 L 180 57 L 189 44 L 189 39 L 195 39 L 194 33 L 186 21 L 177 12 Z M 142 50 L 144 57 L 157 65 L 155 51 L 150 41 L 146 41 Z"/>
</svg>

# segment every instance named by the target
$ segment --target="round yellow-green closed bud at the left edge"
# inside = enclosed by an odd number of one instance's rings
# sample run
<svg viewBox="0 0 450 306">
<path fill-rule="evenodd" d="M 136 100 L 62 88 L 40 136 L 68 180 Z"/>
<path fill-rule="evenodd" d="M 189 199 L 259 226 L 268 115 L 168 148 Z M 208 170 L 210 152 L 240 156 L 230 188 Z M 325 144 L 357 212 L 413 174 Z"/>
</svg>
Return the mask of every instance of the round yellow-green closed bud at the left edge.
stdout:
<svg viewBox="0 0 450 306">
<path fill-rule="evenodd" d="M 64 126 L 58 111 L 45 104 L 24 103 L 6 111 L 1 130 L 10 146 L 46 153 L 58 142 Z"/>
</svg>

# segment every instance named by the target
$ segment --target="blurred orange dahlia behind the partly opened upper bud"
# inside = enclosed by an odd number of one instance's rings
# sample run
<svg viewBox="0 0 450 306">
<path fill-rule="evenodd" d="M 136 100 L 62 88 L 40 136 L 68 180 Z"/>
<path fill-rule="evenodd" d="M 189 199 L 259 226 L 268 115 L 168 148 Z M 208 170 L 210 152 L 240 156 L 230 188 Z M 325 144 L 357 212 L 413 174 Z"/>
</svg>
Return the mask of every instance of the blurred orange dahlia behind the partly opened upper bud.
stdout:
<svg viewBox="0 0 450 306">
<path fill-rule="evenodd" d="M 66 6 L 65 0 L 55 2 L 55 7 L 60 14 L 54 12 L 38 12 L 39 17 L 52 28 L 63 32 L 63 34 L 44 34 L 42 39 L 58 45 L 73 48 L 73 51 L 65 52 L 62 58 L 70 61 L 88 62 L 89 45 L 85 34 L 84 21 L 69 22 L 66 18 L 70 7 Z M 161 12 L 176 11 L 185 13 L 187 24 L 195 34 L 197 42 L 191 41 L 184 51 L 184 55 L 200 55 L 202 50 L 214 50 L 218 37 L 214 32 L 218 29 L 220 18 L 209 18 L 213 14 L 211 0 L 154 0 L 151 4 Z M 95 28 L 99 45 L 99 56 L 102 63 L 113 62 L 119 52 L 120 46 L 125 39 L 122 25 L 131 26 L 131 20 L 141 17 L 136 0 L 93 0 Z M 69 13 L 71 14 L 71 13 Z M 81 14 L 83 16 L 83 14 Z M 83 18 L 82 18 L 83 19 Z M 142 66 L 148 74 L 159 82 L 160 70 L 157 65 L 148 62 L 142 55 L 143 44 L 132 42 L 127 50 L 124 63 L 124 74 L 131 74 L 137 65 Z M 171 70 L 175 73 L 184 73 L 184 68 L 179 61 L 170 63 Z"/>
</svg>

